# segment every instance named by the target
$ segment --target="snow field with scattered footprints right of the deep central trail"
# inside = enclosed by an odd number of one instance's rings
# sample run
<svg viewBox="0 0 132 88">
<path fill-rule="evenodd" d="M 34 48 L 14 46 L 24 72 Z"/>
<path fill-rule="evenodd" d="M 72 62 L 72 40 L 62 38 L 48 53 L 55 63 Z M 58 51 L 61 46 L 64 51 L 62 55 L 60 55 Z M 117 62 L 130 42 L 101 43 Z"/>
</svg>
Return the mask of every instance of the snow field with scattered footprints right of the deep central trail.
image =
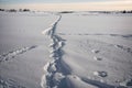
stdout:
<svg viewBox="0 0 132 88">
<path fill-rule="evenodd" d="M 132 78 L 132 37 L 124 37 L 132 34 L 132 15 L 62 16 L 56 32 L 66 40 L 62 61 L 72 74 L 102 88 L 119 87 Z"/>
</svg>

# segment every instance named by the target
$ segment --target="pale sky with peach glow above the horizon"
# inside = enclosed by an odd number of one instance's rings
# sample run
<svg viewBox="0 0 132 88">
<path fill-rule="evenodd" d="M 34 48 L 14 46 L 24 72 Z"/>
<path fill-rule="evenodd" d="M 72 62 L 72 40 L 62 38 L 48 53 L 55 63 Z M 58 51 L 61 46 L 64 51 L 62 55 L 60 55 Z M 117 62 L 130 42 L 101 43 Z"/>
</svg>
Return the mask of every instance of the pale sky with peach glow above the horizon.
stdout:
<svg viewBox="0 0 132 88">
<path fill-rule="evenodd" d="M 0 0 L 0 8 L 40 11 L 132 10 L 132 0 Z"/>
</svg>

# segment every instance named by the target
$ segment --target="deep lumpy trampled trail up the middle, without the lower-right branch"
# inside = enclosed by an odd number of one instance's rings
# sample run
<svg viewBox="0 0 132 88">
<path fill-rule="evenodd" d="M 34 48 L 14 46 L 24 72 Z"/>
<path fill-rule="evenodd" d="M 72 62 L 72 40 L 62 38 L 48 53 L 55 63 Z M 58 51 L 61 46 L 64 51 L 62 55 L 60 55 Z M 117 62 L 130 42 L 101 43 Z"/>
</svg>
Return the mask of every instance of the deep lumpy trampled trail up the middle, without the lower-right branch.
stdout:
<svg viewBox="0 0 132 88">
<path fill-rule="evenodd" d="M 42 88 L 58 88 L 61 80 L 65 78 L 66 74 L 68 74 L 66 68 L 64 68 L 65 64 L 62 64 L 62 48 L 65 45 L 65 41 L 55 33 L 57 23 L 61 19 L 62 15 L 58 15 L 58 19 L 48 29 L 42 32 L 44 35 L 50 36 L 52 41 L 50 44 L 50 47 L 52 48 L 50 57 L 52 61 L 43 68 L 45 74 L 42 77 Z"/>
</svg>

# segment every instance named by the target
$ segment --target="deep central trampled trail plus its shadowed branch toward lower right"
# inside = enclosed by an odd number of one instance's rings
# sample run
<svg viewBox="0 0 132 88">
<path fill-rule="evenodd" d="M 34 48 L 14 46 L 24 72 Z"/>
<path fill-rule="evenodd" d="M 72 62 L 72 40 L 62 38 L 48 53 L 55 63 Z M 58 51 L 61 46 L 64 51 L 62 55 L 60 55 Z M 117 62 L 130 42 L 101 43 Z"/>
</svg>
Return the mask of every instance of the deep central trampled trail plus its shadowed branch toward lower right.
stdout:
<svg viewBox="0 0 132 88">
<path fill-rule="evenodd" d="M 52 59 L 43 67 L 44 75 L 42 76 L 41 80 L 42 88 L 73 88 L 72 84 L 68 82 L 70 77 L 77 80 L 80 79 L 82 82 L 95 87 L 107 86 L 108 88 L 113 88 L 113 86 L 105 82 L 81 78 L 70 73 L 70 68 L 62 61 L 65 40 L 58 36 L 55 32 L 57 23 L 61 21 L 61 19 L 62 15 L 58 15 L 58 19 L 48 29 L 42 32 L 44 35 L 50 36 L 50 40 L 52 41 L 50 44 L 50 48 L 52 50 L 50 51 L 50 57 Z"/>
</svg>

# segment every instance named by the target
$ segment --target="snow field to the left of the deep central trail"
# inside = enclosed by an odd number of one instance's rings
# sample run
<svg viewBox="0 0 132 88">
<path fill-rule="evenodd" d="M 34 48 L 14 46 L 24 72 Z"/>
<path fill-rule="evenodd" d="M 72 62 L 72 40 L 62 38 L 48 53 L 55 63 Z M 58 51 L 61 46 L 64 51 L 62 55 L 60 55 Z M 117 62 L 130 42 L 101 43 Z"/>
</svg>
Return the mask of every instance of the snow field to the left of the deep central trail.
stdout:
<svg viewBox="0 0 132 88">
<path fill-rule="evenodd" d="M 50 41 L 41 32 L 56 16 L 51 13 L 0 14 L 0 76 L 9 84 L 10 79 L 15 81 L 13 87 L 41 88 L 43 66 L 50 61 Z"/>
</svg>

